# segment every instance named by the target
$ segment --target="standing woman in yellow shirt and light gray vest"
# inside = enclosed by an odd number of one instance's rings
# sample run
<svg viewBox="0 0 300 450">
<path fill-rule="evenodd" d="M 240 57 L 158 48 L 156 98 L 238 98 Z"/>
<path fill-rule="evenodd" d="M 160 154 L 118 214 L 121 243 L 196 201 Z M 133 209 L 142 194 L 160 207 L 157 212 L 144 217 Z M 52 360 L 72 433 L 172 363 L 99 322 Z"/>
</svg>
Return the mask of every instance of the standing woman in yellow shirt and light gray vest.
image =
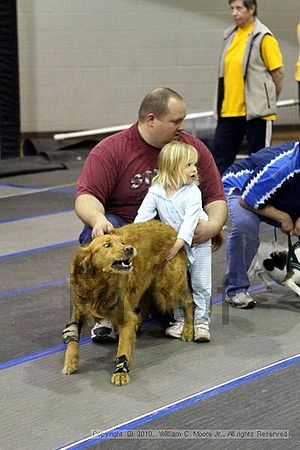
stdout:
<svg viewBox="0 0 300 450">
<path fill-rule="evenodd" d="M 256 0 L 229 0 L 235 25 L 224 33 L 213 156 L 222 174 L 235 160 L 244 136 L 248 152 L 271 142 L 283 62 L 272 32 L 257 19 Z"/>
</svg>

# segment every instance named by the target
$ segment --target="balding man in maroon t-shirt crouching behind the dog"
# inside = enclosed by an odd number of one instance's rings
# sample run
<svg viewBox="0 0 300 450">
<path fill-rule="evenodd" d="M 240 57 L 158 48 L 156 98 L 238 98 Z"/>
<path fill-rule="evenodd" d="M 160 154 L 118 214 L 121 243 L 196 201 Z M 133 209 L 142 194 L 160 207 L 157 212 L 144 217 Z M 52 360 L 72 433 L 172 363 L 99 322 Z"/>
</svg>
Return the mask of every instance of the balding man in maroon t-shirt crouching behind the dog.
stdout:
<svg viewBox="0 0 300 450">
<path fill-rule="evenodd" d="M 159 151 L 173 140 L 193 145 L 199 153 L 200 189 L 208 221 L 199 221 L 194 243 L 218 234 L 227 218 L 223 184 L 210 151 L 184 131 L 185 116 L 186 104 L 177 92 L 153 89 L 141 103 L 138 122 L 103 139 L 90 152 L 78 179 L 75 202 L 76 213 L 85 223 L 80 243 L 133 222 L 156 173 Z M 110 322 L 96 324 L 92 339 L 115 339 Z"/>
</svg>

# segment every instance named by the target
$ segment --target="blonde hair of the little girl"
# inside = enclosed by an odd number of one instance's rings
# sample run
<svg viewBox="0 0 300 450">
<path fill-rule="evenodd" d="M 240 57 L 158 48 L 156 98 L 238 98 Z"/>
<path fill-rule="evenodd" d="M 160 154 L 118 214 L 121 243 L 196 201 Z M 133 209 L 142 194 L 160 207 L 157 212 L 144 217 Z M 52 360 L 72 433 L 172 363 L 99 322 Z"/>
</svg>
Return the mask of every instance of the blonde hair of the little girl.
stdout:
<svg viewBox="0 0 300 450">
<path fill-rule="evenodd" d="M 198 161 L 198 152 L 192 145 L 174 141 L 166 144 L 158 156 L 158 173 L 153 184 L 161 184 L 165 189 L 179 189 L 187 184 L 184 169 L 188 162 Z"/>
</svg>

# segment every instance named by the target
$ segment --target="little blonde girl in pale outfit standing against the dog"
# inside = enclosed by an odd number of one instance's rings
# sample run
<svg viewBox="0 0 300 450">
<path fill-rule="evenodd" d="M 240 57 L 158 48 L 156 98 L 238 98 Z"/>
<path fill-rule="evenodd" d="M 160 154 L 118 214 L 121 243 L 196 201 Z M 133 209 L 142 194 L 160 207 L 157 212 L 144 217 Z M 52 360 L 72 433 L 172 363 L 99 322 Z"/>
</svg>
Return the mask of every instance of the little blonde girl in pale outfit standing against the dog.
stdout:
<svg viewBox="0 0 300 450">
<path fill-rule="evenodd" d="M 157 214 L 162 222 L 177 231 L 177 239 L 167 259 L 172 259 L 184 246 L 189 260 L 189 272 L 194 310 L 194 340 L 210 341 L 211 299 L 211 241 L 192 246 L 199 219 L 207 220 L 198 188 L 198 152 L 184 142 L 171 142 L 163 147 L 158 158 L 158 173 L 141 204 L 135 223 L 146 222 Z M 180 338 L 184 313 L 173 311 L 175 323 L 166 329 L 166 335 Z"/>
</svg>

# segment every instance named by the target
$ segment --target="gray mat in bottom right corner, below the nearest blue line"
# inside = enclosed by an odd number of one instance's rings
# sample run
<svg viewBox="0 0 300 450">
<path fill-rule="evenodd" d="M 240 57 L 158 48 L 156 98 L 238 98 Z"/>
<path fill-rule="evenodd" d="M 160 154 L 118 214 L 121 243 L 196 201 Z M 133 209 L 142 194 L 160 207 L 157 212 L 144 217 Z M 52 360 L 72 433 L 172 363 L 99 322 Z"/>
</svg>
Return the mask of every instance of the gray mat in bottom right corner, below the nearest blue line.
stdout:
<svg viewBox="0 0 300 450">
<path fill-rule="evenodd" d="M 188 404 L 115 439 L 87 447 L 100 449 L 228 450 L 298 449 L 300 364 L 285 367 L 230 390 Z M 168 430 L 173 438 L 167 436 Z M 178 431 L 177 431 L 178 430 Z M 266 432 L 274 430 L 269 436 Z M 275 430 L 282 430 L 275 433 Z M 130 438 L 130 435 L 133 437 Z M 147 438 L 148 434 L 148 438 Z M 176 439 L 177 436 L 180 436 Z M 207 437 L 206 437 L 207 436 Z M 126 438 L 127 437 L 127 438 Z"/>
</svg>

